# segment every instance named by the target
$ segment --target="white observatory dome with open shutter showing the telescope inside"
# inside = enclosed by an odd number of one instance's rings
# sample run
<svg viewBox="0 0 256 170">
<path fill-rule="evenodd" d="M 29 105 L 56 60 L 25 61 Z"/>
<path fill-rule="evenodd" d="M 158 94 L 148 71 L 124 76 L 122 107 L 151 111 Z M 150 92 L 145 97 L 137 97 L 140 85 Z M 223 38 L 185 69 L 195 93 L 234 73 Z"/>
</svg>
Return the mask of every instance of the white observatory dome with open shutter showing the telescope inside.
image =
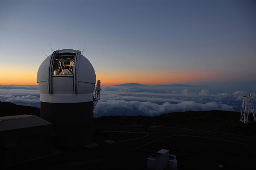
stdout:
<svg viewBox="0 0 256 170">
<path fill-rule="evenodd" d="M 40 101 L 79 103 L 93 101 L 96 76 L 90 61 L 80 51 L 57 50 L 48 56 L 37 72 Z"/>
</svg>

